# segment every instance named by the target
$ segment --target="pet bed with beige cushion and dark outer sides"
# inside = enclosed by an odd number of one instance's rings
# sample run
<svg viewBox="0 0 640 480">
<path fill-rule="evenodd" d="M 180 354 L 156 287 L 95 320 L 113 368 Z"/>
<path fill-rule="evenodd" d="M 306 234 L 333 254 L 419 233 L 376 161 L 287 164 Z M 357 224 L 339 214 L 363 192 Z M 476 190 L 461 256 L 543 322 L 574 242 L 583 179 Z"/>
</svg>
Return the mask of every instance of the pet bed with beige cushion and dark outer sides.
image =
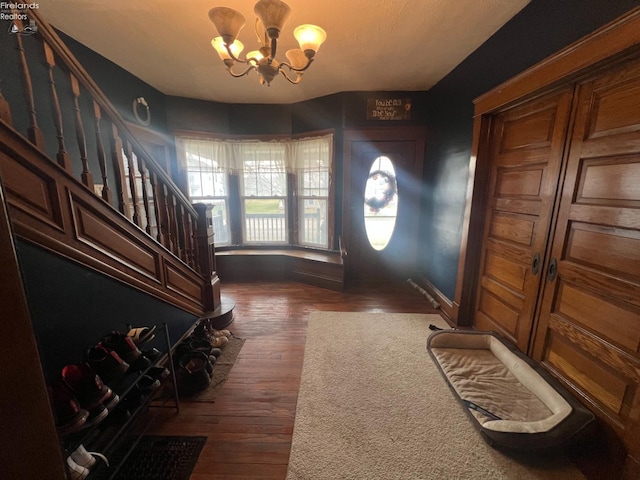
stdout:
<svg viewBox="0 0 640 480">
<path fill-rule="evenodd" d="M 594 423 L 593 413 L 555 378 L 494 332 L 438 331 L 427 350 L 493 447 L 554 449 Z"/>
</svg>

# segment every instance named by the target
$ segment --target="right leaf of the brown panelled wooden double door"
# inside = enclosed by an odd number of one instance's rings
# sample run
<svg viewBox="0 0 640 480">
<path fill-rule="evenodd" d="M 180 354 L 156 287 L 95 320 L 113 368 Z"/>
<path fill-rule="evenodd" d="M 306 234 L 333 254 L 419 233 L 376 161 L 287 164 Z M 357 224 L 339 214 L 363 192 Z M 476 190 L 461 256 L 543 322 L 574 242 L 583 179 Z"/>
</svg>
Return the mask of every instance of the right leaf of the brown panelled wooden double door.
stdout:
<svg viewBox="0 0 640 480">
<path fill-rule="evenodd" d="M 583 83 L 533 355 L 640 452 L 640 64 Z M 635 426 L 634 426 L 635 425 Z"/>
</svg>

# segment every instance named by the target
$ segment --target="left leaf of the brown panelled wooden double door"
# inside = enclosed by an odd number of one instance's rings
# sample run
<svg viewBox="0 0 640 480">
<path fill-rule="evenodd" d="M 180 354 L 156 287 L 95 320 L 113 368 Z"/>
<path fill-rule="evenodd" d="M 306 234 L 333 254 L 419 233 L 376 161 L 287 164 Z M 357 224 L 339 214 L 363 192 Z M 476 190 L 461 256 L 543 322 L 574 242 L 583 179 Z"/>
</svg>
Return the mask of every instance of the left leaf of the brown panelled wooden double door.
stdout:
<svg viewBox="0 0 640 480">
<path fill-rule="evenodd" d="M 572 91 L 498 114 L 474 326 L 527 351 Z"/>
</svg>

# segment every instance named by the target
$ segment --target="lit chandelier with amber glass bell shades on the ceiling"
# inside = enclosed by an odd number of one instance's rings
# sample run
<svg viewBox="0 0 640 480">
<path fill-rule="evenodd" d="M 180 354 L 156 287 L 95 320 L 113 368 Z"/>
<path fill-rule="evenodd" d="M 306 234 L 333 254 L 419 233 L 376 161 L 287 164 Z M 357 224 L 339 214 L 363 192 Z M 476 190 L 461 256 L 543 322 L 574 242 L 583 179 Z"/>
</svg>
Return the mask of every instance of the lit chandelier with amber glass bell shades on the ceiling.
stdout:
<svg viewBox="0 0 640 480">
<path fill-rule="evenodd" d="M 209 19 L 220 35 L 211 41 L 211 45 L 218 52 L 227 71 L 233 77 L 242 77 L 255 70 L 262 85 L 270 85 L 279 73 L 293 84 L 300 83 L 302 74 L 309 68 L 320 45 L 327 38 L 326 32 L 315 25 L 300 25 L 293 31 L 300 48 L 287 50 L 285 55 L 289 62 L 279 62 L 275 58 L 278 38 L 291 15 L 291 8 L 281 0 L 260 0 L 253 7 L 253 11 L 258 17 L 255 32 L 260 48 L 247 53 L 245 58 L 241 59 L 240 52 L 244 45 L 237 36 L 245 24 L 244 16 L 227 7 L 214 7 L 209 10 Z M 233 67 L 236 62 L 246 65 L 246 69 L 235 72 Z"/>
</svg>

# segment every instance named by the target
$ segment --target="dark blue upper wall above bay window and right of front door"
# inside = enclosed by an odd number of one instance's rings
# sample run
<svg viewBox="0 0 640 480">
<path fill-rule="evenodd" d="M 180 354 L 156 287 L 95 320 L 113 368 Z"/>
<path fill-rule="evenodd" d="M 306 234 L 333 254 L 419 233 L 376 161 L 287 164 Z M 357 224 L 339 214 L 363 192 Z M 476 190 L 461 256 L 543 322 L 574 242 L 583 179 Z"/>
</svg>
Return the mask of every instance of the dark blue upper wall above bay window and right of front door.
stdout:
<svg viewBox="0 0 640 480">
<path fill-rule="evenodd" d="M 424 125 L 427 131 L 419 269 L 447 298 L 453 300 L 457 281 L 473 99 L 638 5 L 639 0 L 532 0 L 432 89 L 411 92 L 412 121 L 396 125 Z M 160 131 L 278 135 L 334 129 L 339 233 L 342 130 L 373 124 L 365 119 L 365 102 L 371 93 L 344 92 L 294 105 L 232 105 L 165 97 L 64 38 L 125 118 L 134 121 L 131 102 L 145 96 L 152 106 L 152 127 Z"/>
</svg>

